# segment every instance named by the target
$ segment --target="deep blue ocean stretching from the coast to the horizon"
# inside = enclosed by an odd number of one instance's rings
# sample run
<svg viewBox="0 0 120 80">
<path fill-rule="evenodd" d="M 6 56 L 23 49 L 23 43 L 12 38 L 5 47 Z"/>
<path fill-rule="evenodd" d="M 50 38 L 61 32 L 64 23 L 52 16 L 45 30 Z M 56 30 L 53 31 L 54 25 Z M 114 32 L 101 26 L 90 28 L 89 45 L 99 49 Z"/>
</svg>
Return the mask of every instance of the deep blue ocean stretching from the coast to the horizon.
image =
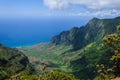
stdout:
<svg viewBox="0 0 120 80">
<path fill-rule="evenodd" d="M 88 20 L 81 17 L 0 19 L 0 43 L 14 48 L 49 42 L 51 37 L 74 26 L 85 25 Z"/>
</svg>

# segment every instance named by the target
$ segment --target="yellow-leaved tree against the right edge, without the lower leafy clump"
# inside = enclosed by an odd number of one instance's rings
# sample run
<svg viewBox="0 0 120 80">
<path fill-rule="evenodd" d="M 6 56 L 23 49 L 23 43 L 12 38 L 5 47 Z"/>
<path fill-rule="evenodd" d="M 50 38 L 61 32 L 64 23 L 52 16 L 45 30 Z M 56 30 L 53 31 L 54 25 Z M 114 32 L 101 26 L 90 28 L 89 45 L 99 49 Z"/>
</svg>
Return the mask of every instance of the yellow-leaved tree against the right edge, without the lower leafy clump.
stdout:
<svg viewBox="0 0 120 80">
<path fill-rule="evenodd" d="M 117 30 L 120 31 L 120 25 L 117 26 Z M 120 76 L 120 33 L 114 33 L 107 35 L 103 38 L 104 45 L 109 47 L 114 55 L 110 58 L 113 62 L 113 73 L 116 77 Z"/>
</svg>

